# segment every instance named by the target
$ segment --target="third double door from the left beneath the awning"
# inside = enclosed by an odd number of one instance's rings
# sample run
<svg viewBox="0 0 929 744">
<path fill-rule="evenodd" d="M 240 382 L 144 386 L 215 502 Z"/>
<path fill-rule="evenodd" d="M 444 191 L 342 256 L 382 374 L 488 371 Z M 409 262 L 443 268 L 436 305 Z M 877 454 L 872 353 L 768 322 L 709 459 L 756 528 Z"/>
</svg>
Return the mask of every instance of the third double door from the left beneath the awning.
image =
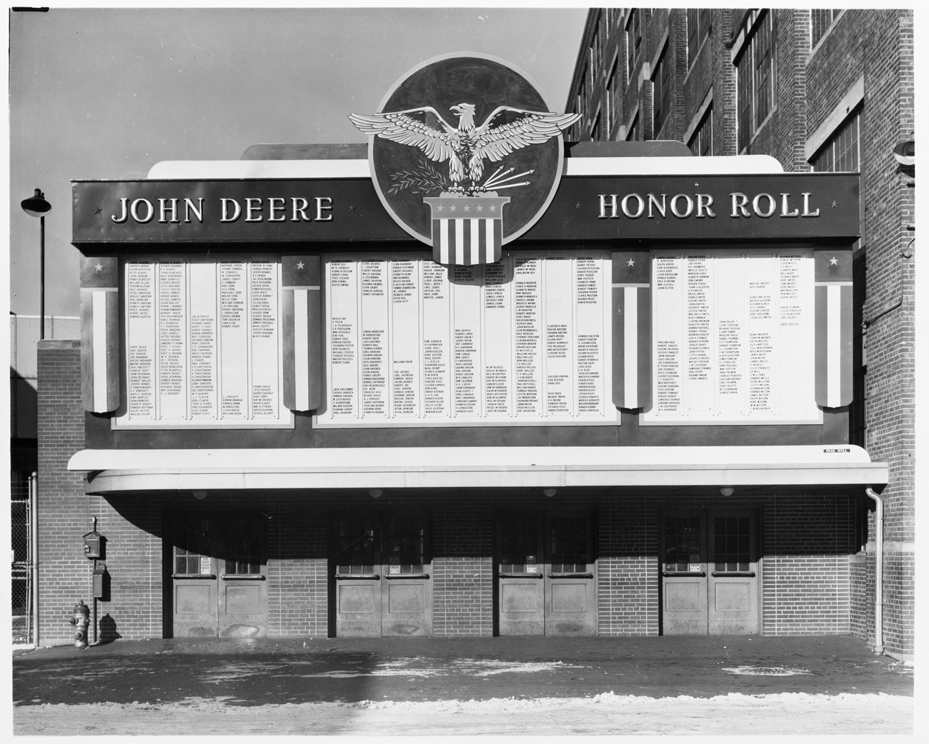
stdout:
<svg viewBox="0 0 929 744">
<path fill-rule="evenodd" d="M 590 511 L 505 511 L 496 532 L 499 634 L 596 635 Z"/>
</svg>

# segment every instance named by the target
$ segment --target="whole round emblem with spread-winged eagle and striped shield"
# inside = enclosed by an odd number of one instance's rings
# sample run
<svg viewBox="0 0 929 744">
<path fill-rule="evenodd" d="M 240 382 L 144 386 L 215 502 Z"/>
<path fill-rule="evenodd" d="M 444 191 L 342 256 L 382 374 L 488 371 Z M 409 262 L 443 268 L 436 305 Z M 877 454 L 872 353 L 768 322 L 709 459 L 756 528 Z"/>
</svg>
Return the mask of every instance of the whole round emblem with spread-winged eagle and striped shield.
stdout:
<svg viewBox="0 0 929 744">
<path fill-rule="evenodd" d="M 502 59 L 443 55 L 417 65 L 377 113 L 350 113 L 368 135 L 373 186 L 386 212 L 447 265 L 494 263 L 555 198 L 563 133 L 555 113 Z"/>
</svg>

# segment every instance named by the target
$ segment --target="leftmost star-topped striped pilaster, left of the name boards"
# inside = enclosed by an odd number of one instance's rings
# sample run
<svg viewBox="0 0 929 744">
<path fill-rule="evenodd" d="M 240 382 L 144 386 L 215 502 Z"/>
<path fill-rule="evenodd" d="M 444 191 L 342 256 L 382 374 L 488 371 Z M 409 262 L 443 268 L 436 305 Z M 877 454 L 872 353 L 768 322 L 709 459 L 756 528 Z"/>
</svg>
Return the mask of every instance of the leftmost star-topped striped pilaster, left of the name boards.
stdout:
<svg viewBox="0 0 929 744">
<path fill-rule="evenodd" d="M 84 408 L 119 408 L 119 261 L 81 257 L 81 372 Z"/>
</svg>

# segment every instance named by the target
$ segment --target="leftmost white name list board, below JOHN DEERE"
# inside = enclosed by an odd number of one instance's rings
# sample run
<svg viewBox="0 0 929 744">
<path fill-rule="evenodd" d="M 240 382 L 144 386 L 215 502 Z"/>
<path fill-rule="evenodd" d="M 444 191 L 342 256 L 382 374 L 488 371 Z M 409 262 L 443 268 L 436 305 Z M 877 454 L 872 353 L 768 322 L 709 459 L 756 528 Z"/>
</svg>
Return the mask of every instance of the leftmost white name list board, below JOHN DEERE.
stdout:
<svg viewBox="0 0 929 744">
<path fill-rule="evenodd" d="M 291 426 L 281 404 L 281 266 L 124 265 L 126 412 L 117 428 Z"/>
</svg>

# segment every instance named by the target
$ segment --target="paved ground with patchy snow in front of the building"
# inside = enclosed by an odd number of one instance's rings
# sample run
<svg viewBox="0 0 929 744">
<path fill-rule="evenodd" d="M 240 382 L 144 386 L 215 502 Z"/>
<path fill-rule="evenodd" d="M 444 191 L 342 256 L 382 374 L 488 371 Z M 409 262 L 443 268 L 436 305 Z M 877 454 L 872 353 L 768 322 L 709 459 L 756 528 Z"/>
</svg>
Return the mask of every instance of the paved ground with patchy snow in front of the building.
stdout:
<svg viewBox="0 0 929 744">
<path fill-rule="evenodd" d="M 856 706 L 856 696 L 877 695 L 891 696 L 886 701 L 896 707 L 884 714 L 894 721 L 884 720 L 880 706 L 873 703 L 866 706 L 873 709 L 868 712 L 869 720 L 892 724 L 895 733 L 900 733 L 912 725 L 911 714 L 908 718 L 901 713 L 911 709 L 912 694 L 911 664 L 875 655 L 864 643 L 848 636 L 118 640 L 83 650 L 40 648 L 13 659 L 14 717 L 18 716 L 20 723 L 31 722 L 25 728 L 25 724 L 18 724 L 17 733 L 63 733 L 36 728 L 44 715 L 48 721 L 59 715 L 62 721 L 78 725 L 76 712 L 96 710 L 94 716 L 87 717 L 88 722 L 96 723 L 88 723 L 89 728 L 82 729 L 86 733 L 103 720 L 100 710 L 120 714 L 135 711 L 134 721 L 139 720 L 140 710 L 173 710 L 173 720 L 179 721 L 178 710 L 190 712 L 191 706 L 207 703 L 215 706 L 214 712 L 221 709 L 225 713 L 222 720 L 227 726 L 233 720 L 230 713 L 242 714 L 248 709 L 279 725 L 281 712 L 286 710 L 294 713 L 294 721 L 304 720 L 307 710 L 315 705 L 318 724 L 333 722 L 334 728 L 325 729 L 328 733 L 348 733 L 339 727 L 345 724 L 346 706 L 357 716 L 360 709 L 391 705 L 395 717 L 407 721 L 415 718 L 418 710 L 428 713 L 437 725 L 435 705 L 450 712 L 449 701 L 471 701 L 470 709 L 457 713 L 480 715 L 480 705 L 502 710 L 501 700 L 513 709 L 517 703 L 525 707 L 541 704 L 541 700 L 552 708 L 562 703 L 577 707 L 584 702 L 668 698 L 704 700 L 703 715 L 724 725 L 722 730 L 726 731 L 728 714 L 719 712 L 721 700 L 743 705 L 746 700 L 804 700 L 814 705 L 810 710 L 815 714 L 815 705 L 826 699 L 843 699 L 856 710 L 862 707 Z M 429 701 L 434 701 L 431 712 L 423 707 L 433 704 Z M 342 706 L 341 715 L 335 715 L 335 709 L 332 715 L 323 715 L 320 704 Z M 707 714 L 710 707 L 715 712 Z M 277 713 L 269 714 L 272 710 Z M 600 710 L 606 709 L 601 705 Z M 667 716 L 667 710 L 664 706 L 661 717 Z M 769 712 L 773 716 L 777 710 Z M 785 709 L 779 710 L 783 716 Z M 303 712 L 302 717 L 295 715 L 297 711 Z M 561 712 L 559 721 L 568 720 L 565 713 Z M 754 716 L 756 725 L 766 720 L 759 717 L 758 710 L 742 713 Z M 588 722 L 588 727 L 582 728 L 587 733 L 617 730 L 613 721 L 609 724 L 612 727 L 592 731 L 589 713 L 586 718 L 582 712 L 578 715 Z M 460 715 L 457 720 L 462 720 Z M 508 725 L 516 725 L 512 715 L 506 720 Z M 532 720 L 538 724 L 542 719 L 538 712 L 529 711 L 526 725 Z M 847 721 L 847 714 L 838 720 Z M 710 730 L 690 725 L 685 730 Z M 774 730 L 765 733 L 778 733 L 779 725 L 770 725 Z M 269 733 L 305 731 L 298 723 L 294 726 L 283 731 L 272 728 Z M 240 727 L 233 730 L 242 731 Z M 257 730 L 268 729 L 259 726 Z M 530 729 L 519 731 L 524 730 Z M 650 730 L 648 725 L 644 730 Z M 117 731 L 144 732 L 111 723 L 99 733 Z M 209 733 L 223 731 L 228 733 L 221 727 Z M 359 731 L 352 729 L 353 733 Z M 497 728 L 478 729 L 478 733 L 491 731 L 501 733 Z M 634 733 L 642 732 L 640 726 Z"/>
</svg>

